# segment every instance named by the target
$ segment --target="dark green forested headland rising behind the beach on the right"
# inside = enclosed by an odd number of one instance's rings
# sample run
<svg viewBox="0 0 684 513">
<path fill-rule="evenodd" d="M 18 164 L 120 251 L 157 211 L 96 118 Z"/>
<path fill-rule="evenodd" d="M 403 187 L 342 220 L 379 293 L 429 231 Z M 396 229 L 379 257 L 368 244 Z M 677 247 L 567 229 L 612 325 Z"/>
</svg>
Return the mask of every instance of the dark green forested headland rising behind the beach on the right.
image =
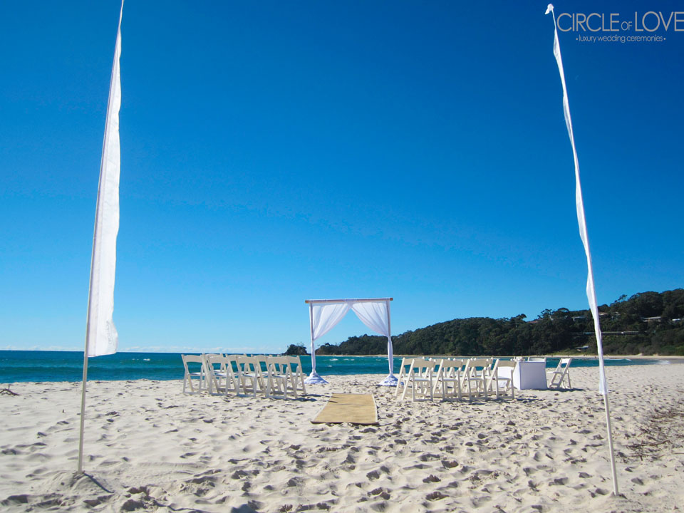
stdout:
<svg viewBox="0 0 684 513">
<path fill-rule="evenodd" d="M 621 296 L 598 311 L 603 353 L 684 356 L 684 289 Z M 524 314 L 460 318 L 400 333 L 392 341 L 394 353 L 403 355 L 524 356 L 578 350 L 596 354 L 589 309 L 546 309 L 532 321 Z M 353 336 L 316 349 L 320 355 L 386 352 L 387 338 L 376 335 Z M 286 353 L 308 352 L 303 344 L 292 344 Z"/>
</svg>

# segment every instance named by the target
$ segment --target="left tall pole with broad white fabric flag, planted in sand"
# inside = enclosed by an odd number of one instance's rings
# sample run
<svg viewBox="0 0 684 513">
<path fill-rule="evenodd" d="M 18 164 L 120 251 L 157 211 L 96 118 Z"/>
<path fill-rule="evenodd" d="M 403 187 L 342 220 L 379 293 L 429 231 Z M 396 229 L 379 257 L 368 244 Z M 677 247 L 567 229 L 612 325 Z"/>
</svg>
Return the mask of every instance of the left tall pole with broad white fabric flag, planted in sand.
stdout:
<svg viewBox="0 0 684 513">
<path fill-rule="evenodd" d="M 119 25 L 114 47 L 114 63 L 109 85 L 105 136 L 100 160 L 98 200 L 95 207 L 93 252 L 90 256 L 88 284 L 88 313 L 86 314 L 86 349 L 83 351 L 83 391 L 81 393 L 81 433 L 78 439 L 78 474 L 83 473 L 83 432 L 86 423 L 86 384 L 88 383 L 88 356 L 115 353 L 118 335 L 112 320 L 114 309 L 114 274 L 116 266 L 116 235 L 119 229 L 119 109 L 121 81 L 121 19 L 123 0 L 119 11 Z"/>
</svg>

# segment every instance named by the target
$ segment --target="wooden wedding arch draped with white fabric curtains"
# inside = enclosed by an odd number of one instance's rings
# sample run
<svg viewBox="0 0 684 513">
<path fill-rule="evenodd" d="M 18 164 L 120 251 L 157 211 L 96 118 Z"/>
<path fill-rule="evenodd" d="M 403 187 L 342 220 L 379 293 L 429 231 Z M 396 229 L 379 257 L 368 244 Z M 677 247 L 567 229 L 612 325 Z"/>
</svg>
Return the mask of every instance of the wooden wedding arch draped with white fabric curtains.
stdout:
<svg viewBox="0 0 684 513">
<path fill-rule="evenodd" d="M 396 386 L 397 378 L 394 372 L 394 355 L 392 349 L 392 336 L 390 334 L 390 301 L 393 298 L 375 299 L 307 299 L 309 305 L 309 323 L 311 325 L 311 374 L 305 383 L 328 383 L 316 372 L 316 346 L 317 338 L 331 331 L 342 320 L 349 310 L 371 328 L 375 333 L 387 337 L 387 358 L 390 373 L 378 385 Z"/>
</svg>

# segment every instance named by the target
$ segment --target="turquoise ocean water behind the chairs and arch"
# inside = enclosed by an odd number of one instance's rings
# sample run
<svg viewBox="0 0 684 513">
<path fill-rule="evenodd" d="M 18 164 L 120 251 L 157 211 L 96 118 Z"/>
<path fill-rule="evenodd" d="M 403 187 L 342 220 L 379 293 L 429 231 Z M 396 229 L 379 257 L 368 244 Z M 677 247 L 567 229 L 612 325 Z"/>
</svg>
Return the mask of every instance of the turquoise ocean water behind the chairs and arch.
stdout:
<svg viewBox="0 0 684 513">
<path fill-rule="evenodd" d="M 301 357 L 304 373 L 311 372 L 311 357 Z M 606 366 L 653 365 L 662 359 L 607 358 Z M 394 358 L 398 370 L 401 358 Z M 558 358 L 549 358 L 555 368 Z M 576 358 L 573 367 L 596 367 L 596 358 Z M 316 371 L 325 376 L 388 373 L 386 356 L 316 356 Z M 22 381 L 81 381 L 81 351 L 0 351 L 0 383 Z M 88 361 L 88 380 L 175 380 L 183 378 L 180 353 L 115 353 Z"/>
</svg>

